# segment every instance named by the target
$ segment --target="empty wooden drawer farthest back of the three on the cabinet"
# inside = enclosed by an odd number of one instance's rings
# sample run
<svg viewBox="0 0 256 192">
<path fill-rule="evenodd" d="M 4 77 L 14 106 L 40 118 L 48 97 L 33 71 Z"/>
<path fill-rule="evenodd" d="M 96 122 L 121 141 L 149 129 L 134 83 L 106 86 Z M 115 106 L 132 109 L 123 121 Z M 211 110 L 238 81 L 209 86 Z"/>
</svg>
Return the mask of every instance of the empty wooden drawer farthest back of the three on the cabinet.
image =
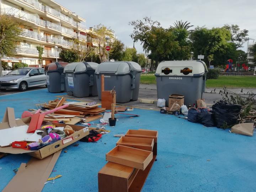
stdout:
<svg viewBox="0 0 256 192">
<path fill-rule="evenodd" d="M 126 137 L 150 138 L 150 139 L 154 139 L 154 142 L 157 143 L 158 131 L 145 130 L 145 129 L 140 129 L 140 130 L 129 129 L 127 131 L 127 133 L 125 134 L 125 136 Z"/>
</svg>

